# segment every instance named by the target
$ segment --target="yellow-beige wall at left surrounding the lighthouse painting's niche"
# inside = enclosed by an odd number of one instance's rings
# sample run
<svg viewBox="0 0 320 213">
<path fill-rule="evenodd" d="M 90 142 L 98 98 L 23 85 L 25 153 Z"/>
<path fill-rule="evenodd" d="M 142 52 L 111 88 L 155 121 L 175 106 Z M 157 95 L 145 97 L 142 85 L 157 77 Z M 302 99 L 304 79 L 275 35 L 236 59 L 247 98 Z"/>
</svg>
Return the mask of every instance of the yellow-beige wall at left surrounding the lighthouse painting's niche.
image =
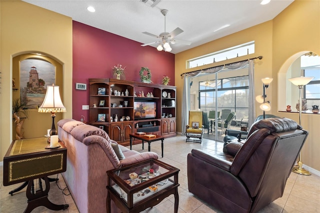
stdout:
<svg viewBox="0 0 320 213">
<path fill-rule="evenodd" d="M 72 19 L 19 1 L 0 1 L 0 155 L 1 160 L 12 141 L 12 58 L 22 53 L 40 52 L 62 64 L 63 104 L 72 117 Z M 51 126 L 47 113 L 29 113 L 23 125 L 32 123 L 35 136 Z M 43 125 L 43 123 L 46 123 Z M 28 126 L 29 127 L 29 126 Z M 29 129 L 29 128 L 26 129 Z"/>
</svg>

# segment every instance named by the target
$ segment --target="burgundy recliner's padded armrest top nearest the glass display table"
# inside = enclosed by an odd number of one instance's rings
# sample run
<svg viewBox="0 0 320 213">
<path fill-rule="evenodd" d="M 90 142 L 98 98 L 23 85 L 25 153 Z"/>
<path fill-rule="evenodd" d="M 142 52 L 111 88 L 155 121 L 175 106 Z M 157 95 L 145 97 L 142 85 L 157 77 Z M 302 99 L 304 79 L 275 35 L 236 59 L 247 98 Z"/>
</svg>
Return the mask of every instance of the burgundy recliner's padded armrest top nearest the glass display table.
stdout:
<svg viewBox="0 0 320 213">
<path fill-rule="evenodd" d="M 202 161 L 205 161 L 209 164 L 212 164 L 216 167 L 219 167 L 225 171 L 230 171 L 230 166 L 232 164 L 233 156 L 223 153 L 223 152 L 215 152 L 215 153 L 207 153 L 200 149 L 192 149 L 192 156 L 198 158 Z"/>
</svg>

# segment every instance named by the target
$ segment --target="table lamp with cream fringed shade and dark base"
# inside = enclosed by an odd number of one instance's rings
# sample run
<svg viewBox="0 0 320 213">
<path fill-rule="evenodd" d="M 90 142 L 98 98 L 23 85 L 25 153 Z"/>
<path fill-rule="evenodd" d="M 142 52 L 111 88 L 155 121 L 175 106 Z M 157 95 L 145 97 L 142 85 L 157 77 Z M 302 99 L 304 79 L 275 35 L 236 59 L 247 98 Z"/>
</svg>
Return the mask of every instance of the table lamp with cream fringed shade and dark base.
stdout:
<svg viewBox="0 0 320 213">
<path fill-rule="evenodd" d="M 47 86 L 44 100 L 41 106 L 38 108 L 38 112 L 51 112 L 52 125 L 50 135 L 56 135 L 57 131 L 54 126 L 55 112 L 65 112 L 65 107 L 61 101 L 59 86 L 55 86 L 53 83 L 51 86 Z"/>
</svg>

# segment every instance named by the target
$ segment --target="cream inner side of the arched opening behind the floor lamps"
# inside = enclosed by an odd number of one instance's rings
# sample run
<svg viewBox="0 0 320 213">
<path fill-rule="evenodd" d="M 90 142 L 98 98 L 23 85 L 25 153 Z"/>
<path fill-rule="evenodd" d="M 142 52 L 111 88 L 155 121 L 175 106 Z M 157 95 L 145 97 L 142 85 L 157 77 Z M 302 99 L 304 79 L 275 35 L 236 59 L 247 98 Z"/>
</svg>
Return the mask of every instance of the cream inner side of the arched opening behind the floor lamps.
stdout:
<svg viewBox="0 0 320 213">
<path fill-rule="evenodd" d="M 290 77 L 299 77 L 301 70 L 294 69 L 292 72 L 291 65 L 294 66 L 296 59 L 300 56 L 308 53 L 310 51 L 300 51 L 291 55 L 280 67 L 279 72 L 277 73 L 278 78 L 278 90 L 277 90 L 277 102 L 278 111 L 285 111 L 286 105 L 291 105 L 292 111 L 295 109 L 295 104 L 299 96 L 299 89 L 297 86 L 293 85 L 288 78 Z M 313 52 L 317 54 L 316 52 Z M 299 64 L 296 64 L 299 65 Z M 285 92 L 283 92 L 285 91 Z"/>
</svg>

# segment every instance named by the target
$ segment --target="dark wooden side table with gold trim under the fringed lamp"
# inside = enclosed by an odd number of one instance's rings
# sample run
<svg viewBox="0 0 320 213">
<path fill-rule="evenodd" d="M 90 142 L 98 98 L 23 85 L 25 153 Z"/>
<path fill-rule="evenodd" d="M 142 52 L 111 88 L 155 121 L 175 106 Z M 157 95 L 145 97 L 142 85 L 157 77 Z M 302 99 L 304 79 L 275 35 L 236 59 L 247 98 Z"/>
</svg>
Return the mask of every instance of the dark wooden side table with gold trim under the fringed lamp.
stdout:
<svg viewBox="0 0 320 213">
<path fill-rule="evenodd" d="M 27 182 L 26 197 L 28 204 L 24 212 L 31 212 L 37 206 L 51 210 L 66 209 L 68 204 L 57 205 L 48 200 L 50 183 L 48 175 L 66 170 L 66 147 L 59 141 L 60 147 L 45 149 L 46 137 L 13 140 L 3 157 L 3 185 Z M 39 188 L 34 190 L 33 180 L 42 178 L 45 189 L 39 180 Z"/>
</svg>

